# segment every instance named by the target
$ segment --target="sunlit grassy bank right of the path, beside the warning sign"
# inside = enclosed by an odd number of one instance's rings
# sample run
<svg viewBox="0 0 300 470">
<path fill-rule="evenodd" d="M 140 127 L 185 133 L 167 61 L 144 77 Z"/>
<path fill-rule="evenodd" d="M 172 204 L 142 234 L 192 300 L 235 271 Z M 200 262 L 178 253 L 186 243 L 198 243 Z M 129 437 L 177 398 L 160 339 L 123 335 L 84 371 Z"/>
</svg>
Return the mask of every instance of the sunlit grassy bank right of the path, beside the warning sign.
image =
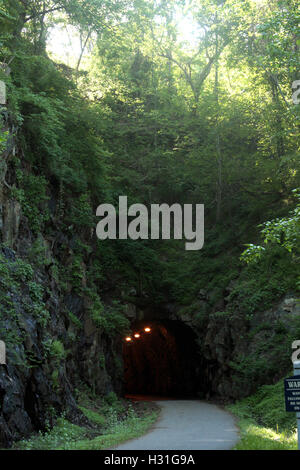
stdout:
<svg viewBox="0 0 300 470">
<path fill-rule="evenodd" d="M 297 450 L 295 413 L 285 411 L 283 380 L 227 407 L 238 419 L 236 450 Z"/>
</svg>

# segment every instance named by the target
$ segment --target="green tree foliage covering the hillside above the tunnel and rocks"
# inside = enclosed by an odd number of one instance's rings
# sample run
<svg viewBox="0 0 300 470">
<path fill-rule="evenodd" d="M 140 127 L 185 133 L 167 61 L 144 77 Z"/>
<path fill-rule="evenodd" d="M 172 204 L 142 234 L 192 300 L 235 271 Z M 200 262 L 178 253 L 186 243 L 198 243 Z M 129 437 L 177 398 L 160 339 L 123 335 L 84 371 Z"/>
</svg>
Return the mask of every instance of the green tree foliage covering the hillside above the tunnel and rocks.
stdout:
<svg viewBox="0 0 300 470">
<path fill-rule="evenodd" d="M 194 3 L 191 15 L 205 37 L 189 49 L 171 20 L 181 4 L 161 6 L 158 22 L 151 2 L 134 11 L 127 6 L 105 2 L 99 9 L 72 1 L 61 6 L 64 18 L 60 11 L 44 17 L 42 6 L 32 8 L 31 2 L 3 6 L 7 54 L 1 60 L 13 57 L 3 80 L 23 149 L 11 195 L 34 233 L 52 236 L 53 223 L 74 237 L 71 264 L 56 270 L 63 290 L 81 295 L 85 285 L 97 285 L 102 296 L 103 289 L 117 285 L 125 296 L 135 289 L 142 302 L 190 306 L 199 288 L 206 288 L 214 306 L 237 277 L 240 247 L 257 236 L 257 223 L 281 213 L 278 220 L 285 220 L 286 200 L 299 180 L 297 109 L 283 99 L 296 70 L 297 9 L 294 2 L 268 9 L 253 2 Z M 212 13 L 217 10 L 219 20 Z M 99 24 L 118 15 L 130 21 L 114 19 L 113 33 L 102 26 L 99 33 Z M 77 24 L 87 45 L 95 38 L 85 70 L 47 56 L 52 20 Z M 248 41 L 243 28 L 255 28 L 257 35 L 249 33 Z M 181 242 L 171 241 L 105 240 L 96 247 L 95 208 L 115 204 L 120 194 L 145 204 L 204 203 L 201 253 L 185 253 Z M 272 223 L 266 236 L 281 229 Z M 286 235 L 285 243 L 292 239 Z M 258 246 L 249 246 L 249 257 L 262 254 Z M 50 263 L 43 251 L 33 246 L 30 260 Z M 268 292 L 254 281 L 241 285 L 236 297 L 245 312 L 256 311 L 264 298 L 269 305 L 272 295 L 286 289 L 277 279 L 274 284 Z M 195 304 L 191 315 L 196 309 Z M 118 312 L 102 313 L 96 301 L 92 317 L 99 328 L 108 330 L 109 321 L 125 328 Z"/>
</svg>

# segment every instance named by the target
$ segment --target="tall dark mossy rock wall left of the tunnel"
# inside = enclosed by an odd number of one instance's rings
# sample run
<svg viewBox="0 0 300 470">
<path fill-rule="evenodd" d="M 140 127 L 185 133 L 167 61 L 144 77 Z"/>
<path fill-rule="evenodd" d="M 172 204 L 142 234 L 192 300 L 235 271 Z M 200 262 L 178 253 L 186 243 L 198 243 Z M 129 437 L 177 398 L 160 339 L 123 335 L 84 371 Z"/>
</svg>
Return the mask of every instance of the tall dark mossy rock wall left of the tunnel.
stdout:
<svg viewBox="0 0 300 470">
<path fill-rule="evenodd" d="M 122 389 L 121 341 L 92 319 L 86 261 L 74 252 L 90 233 L 76 236 L 57 226 L 55 187 L 38 207 L 50 213 L 47 233 L 32 230 L 33 212 L 30 204 L 27 216 L 22 211 L 11 164 L 22 151 L 4 117 L 10 136 L 0 160 L 0 340 L 7 352 L 6 364 L 0 364 L 2 447 L 45 429 L 62 411 L 72 422 L 84 422 L 76 388 L 103 395 Z M 24 174 L 30 177 L 30 169 Z M 58 265 L 68 268 L 64 284 Z"/>
</svg>

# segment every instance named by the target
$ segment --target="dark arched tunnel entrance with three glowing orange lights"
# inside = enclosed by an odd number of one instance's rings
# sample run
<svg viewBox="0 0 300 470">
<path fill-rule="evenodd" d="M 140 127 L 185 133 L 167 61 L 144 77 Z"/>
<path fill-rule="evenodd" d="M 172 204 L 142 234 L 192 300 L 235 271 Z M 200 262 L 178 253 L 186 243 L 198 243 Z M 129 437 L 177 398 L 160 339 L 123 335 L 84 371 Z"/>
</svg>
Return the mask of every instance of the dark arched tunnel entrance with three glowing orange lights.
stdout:
<svg viewBox="0 0 300 470">
<path fill-rule="evenodd" d="M 180 321 L 134 323 L 132 334 L 124 339 L 123 358 L 125 394 L 203 395 L 196 338 Z"/>
</svg>

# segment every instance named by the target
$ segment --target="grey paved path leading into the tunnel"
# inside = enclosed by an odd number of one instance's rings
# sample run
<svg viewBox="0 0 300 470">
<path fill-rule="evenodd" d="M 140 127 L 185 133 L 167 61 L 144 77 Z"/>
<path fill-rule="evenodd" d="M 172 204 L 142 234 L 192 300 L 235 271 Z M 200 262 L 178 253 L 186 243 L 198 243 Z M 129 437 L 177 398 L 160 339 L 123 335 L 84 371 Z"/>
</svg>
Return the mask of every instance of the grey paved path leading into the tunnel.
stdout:
<svg viewBox="0 0 300 470">
<path fill-rule="evenodd" d="M 158 400 L 159 419 L 138 439 L 117 450 L 229 450 L 238 438 L 230 413 L 197 400 Z"/>
</svg>

